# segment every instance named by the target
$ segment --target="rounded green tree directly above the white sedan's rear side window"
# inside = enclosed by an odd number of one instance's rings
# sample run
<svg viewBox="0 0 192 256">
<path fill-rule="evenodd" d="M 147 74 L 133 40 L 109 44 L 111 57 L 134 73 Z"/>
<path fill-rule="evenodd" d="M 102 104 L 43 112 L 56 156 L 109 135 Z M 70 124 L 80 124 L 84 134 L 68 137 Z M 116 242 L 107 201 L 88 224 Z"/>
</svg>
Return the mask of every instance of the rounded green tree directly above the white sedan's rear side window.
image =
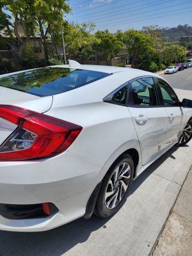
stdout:
<svg viewBox="0 0 192 256">
<path fill-rule="evenodd" d="M 154 48 L 154 38 L 142 31 L 130 29 L 124 33 L 124 42 L 127 45 L 127 51 L 131 56 L 131 67 L 140 67 L 142 61 L 150 60 L 156 49 Z"/>
</svg>

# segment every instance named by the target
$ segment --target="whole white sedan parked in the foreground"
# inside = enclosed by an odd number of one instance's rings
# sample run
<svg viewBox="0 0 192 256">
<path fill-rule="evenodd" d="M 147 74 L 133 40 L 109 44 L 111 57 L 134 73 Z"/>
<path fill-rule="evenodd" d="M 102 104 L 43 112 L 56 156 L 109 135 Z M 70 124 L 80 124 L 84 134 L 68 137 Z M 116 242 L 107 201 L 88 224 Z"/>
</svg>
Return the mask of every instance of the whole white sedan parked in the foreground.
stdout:
<svg viewBox="0 0 192 256">
<path fill-rule="evenodd" d="M 106 218 L 133 179 L 192 136 L 192 102 L 156 74 L 70 65 L 0 76 L 0 229 Z"/>
</svg>

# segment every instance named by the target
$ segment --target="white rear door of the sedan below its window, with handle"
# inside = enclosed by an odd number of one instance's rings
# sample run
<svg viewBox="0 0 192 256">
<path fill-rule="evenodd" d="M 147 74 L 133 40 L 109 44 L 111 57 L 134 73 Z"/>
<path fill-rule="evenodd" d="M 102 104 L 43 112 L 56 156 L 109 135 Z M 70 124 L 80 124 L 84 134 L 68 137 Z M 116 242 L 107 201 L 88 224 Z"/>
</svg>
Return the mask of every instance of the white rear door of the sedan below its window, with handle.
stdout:
<svg viewBox="0 0 192 256">
<path fill-rule="evenodd" d="M 142 164 L 145 165 L 167 147 L 168 116 L 164 108 L 129 108 L 129 111 L 140 141 Z"/>
</svg>

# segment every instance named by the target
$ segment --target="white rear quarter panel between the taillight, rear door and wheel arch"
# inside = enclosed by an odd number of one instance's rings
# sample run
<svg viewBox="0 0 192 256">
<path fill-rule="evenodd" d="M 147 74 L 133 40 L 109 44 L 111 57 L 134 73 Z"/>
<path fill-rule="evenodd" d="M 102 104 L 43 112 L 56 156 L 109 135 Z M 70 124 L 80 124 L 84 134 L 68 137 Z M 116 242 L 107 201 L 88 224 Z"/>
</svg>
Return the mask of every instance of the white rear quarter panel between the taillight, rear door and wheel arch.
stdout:
<svg viewBox="0 0 192 256">
<path fill-rule="evenodd" d="M 103 166 L 101 172 L 106 172 L 116 158 L 129 148 L 135 148 L 140 155 L 138 137 L 127 107 L 94 102 L 53 108 L 47 115 L 83 127 L 67 151 L 100 164 Z"/>
</svg>

